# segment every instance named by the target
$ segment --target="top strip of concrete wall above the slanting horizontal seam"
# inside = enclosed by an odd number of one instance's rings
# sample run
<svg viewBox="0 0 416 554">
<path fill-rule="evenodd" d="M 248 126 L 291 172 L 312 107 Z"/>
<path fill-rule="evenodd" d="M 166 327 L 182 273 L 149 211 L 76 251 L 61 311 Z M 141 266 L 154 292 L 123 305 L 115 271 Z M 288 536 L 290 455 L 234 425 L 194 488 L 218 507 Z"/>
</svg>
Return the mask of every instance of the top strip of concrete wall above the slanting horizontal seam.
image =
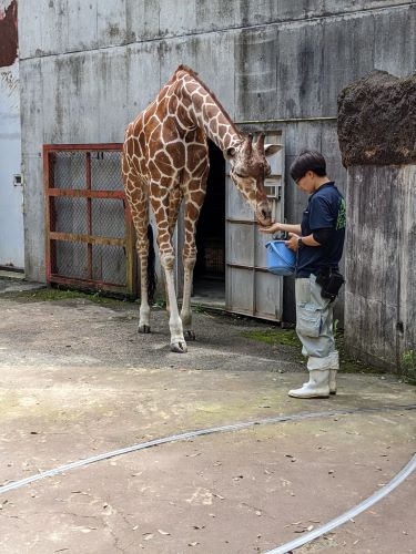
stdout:
<svg viewBox="0 0 416 554">
<path fill-rule="evenodd" d="M 21 0 L 22 58 L 254 25 L 358 16 L 406 0 Z M 393 25 L 393 27 L 392 27 Z M 393 29 L 393 20 L 388 28 Z M 385 38 L 387 40 L 387 37 Z"/>
</svg>

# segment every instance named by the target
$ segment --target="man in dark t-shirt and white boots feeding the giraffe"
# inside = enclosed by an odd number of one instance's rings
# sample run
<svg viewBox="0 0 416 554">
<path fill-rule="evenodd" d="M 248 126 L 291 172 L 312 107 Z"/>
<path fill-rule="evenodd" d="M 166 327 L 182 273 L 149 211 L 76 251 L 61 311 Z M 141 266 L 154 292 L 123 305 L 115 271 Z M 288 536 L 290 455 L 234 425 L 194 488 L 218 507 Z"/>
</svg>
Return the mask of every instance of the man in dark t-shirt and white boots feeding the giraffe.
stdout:
<svg viewBox="0 0 416 554">
<path fill-rule="evenodd" d="M 326 175 L 324 156 L 303 151 L 291 166 L 296 185 L 310 194 L 302 223 L 275 223 L 263 233 L 288 233 L 286 246 L 296 253 L 296 332 L 308 357 L 310 380 L 288 392 L 295 398 L 328 398 L 336 393 L 338 352 L 333 334 L 333 307 L 343 278 L 338 273 L 345 237 L 345 201 Z"/>
</svg>

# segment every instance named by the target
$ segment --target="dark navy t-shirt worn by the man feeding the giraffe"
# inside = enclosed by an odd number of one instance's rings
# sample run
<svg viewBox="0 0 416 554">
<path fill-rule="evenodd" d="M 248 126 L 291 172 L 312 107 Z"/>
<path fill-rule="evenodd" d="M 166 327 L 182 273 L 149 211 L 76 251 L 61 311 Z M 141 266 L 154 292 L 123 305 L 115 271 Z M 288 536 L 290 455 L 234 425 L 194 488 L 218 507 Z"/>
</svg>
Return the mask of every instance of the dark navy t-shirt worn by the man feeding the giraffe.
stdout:
<svg viewBox="0 0 416 554">
<path fill-rule="evenodd" d="M 325 245 L 301 246 L 296 277 L 316 275 L 321 267 L 338 270 L 345 239 L 345 199 L 333 182 L 319 186 L 310 196 L 301 224 L 302 236 L 318 229 L 331 229 L 331 235 Z"/>
</svg>

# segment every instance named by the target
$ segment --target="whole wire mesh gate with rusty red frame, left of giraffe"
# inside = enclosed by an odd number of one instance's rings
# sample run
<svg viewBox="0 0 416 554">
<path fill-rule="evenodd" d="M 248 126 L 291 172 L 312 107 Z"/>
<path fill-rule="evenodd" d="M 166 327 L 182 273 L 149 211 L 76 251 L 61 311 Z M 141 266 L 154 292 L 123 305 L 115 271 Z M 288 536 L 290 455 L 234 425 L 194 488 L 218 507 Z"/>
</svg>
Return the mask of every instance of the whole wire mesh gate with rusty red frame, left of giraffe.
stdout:
<svg viewBox="0 0 416 554">
<path fill-rule="evenodd" d="M 121 144 L 44 145 L 47 280 L 136 296 Z"/>
</svg>

